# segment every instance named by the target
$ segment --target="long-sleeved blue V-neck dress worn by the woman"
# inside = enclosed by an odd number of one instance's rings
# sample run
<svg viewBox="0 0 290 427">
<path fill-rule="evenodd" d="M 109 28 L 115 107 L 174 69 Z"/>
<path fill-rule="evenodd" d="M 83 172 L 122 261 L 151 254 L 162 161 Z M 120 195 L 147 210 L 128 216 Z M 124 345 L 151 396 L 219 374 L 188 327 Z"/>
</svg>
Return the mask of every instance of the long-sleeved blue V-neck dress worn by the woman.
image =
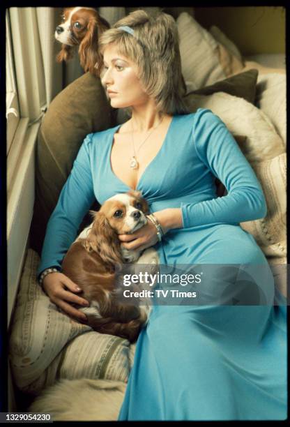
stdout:
<svg viewBox="0 0 290 427">
<path fill-rule="evenodd" d="M 130 189 L 110 164 L 118 129 L 87 135 L 79 149 L 47 225 L 38 274 L 61 268 L 95 198 L 102 204 Z M 215 177 L 227 188 L 224 197 L 216 195 Z M 154 246 L 160 264 L 252 265 L 266 302 L 214 304 L 211 293 L 220 297 L 224 283 L 231 297 L 238 290 L 237 275 L 217 272 L 202 288 L 211 303 L 154 304 L 137 340 L 119 421 L 286 419 L 286 299 L 261 249 L 239 225 L 266 216 L 266 202 L 227 127 L 206 109 L 174 116 L 137 190 L 151 212 L 182 211 L 183 228 Z"/>
</svg>

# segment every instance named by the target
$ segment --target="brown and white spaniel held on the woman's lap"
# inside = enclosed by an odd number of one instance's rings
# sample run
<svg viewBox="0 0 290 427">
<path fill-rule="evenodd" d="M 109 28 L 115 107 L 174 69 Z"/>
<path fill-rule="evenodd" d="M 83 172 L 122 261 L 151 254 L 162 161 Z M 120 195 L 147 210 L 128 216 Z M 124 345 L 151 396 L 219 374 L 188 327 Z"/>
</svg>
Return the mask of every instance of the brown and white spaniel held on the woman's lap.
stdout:
<svg viewBox="0 0 290 427">
<path fill-rule="evenodd" d="M 142 251 L 122 248 L 118 234 L 131 234 L 147 223 L 148 204 L 139 191 L 110 197 L 94 220 L 68 249 L 63 274 L 78 285 L 89 308 L 79 308 L 88 324 L 102 334 L 137 340 L 151 307 L 122 303 L 118 298 L 115 267 L 133 263 Z M 136 287 L 137 288 L 137 287 Z"/>
</svg>

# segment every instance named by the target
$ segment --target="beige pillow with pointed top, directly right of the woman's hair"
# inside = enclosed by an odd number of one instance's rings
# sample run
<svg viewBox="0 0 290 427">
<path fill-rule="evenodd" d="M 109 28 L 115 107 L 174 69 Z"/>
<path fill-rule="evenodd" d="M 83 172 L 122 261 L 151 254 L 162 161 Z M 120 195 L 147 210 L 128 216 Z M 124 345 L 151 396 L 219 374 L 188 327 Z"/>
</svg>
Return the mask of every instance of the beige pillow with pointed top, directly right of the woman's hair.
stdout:
<svg viewBox="0 0 290 427">
<path fill-rule="evenodd" d="M 218 43 L 206 29 L 183 12 L 176 20 L 185 82 L 199 89 L 226 76 L 218 58 Z"/>
</svg>

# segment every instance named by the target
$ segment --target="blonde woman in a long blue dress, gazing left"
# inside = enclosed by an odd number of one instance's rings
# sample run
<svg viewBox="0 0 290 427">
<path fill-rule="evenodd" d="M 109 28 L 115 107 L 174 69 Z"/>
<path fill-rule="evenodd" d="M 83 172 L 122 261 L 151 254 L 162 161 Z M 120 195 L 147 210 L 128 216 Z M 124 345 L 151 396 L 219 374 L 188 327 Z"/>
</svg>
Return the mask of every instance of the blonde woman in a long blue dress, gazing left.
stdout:
<svg viewBox="0 0 290 427">
<path fill-rule="evenodd" d="M 154 246 L 164 265 L 252 265 L 267 305 L 229 304 L 241 297 L 238 283 L 246 283 L 238 280 L 241 269 L 227 276 L 211 271 L 202 289 L 208 305 L 154 305 L 137 340 L 119 420 L 285 419 L 285 320 L 272 305 L 266 258 L 239 225 L 266 215 L 257 177 L 215 114 L 188 114 L 183 105 L 172 17 L 137 10 L 102 35 L 100 49 L 111 105 L 130 108 L 132 117 L 88 135 L 79 149 L 47 226 L 38 273 L 53 269 L 43 274 L 43 287 L 80 319 L 69 303 L 86 301 L 61 274 L 63 255 L 95 198 L 102 204 L 130 188 L 142 190 L 164 235 L 159 241 L 149 222 L 119 236 L 123 246 Z M 215 177 L 227 188 L 224 197 L 215 194 Z"/>
</svg>

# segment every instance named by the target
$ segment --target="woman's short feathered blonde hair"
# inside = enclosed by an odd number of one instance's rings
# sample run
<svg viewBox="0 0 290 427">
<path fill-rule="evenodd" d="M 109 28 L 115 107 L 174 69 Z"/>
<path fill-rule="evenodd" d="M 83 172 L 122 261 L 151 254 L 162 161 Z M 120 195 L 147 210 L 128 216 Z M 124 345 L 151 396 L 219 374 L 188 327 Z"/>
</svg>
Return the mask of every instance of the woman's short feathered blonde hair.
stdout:
<svg viewBox="0 0 290 427">
<path fill-rule="evenodd" d="M 118 29 L 130 27 L 134 35 Z M 181 73 L 178 31 L 174 18 L 166 13 L 149 15 L 144 10 L 135 10 L 101 34 L 99 50 L 102 56 L 105 47 L 116 45 L 119 53 L 137 64 L 139 79 L 148 94 L 155 100 L 158 112 L 188 114 L 183 103 L 185 83 Z M 98 64 L 102 75 L 103 63 Z"/>
</svg>

